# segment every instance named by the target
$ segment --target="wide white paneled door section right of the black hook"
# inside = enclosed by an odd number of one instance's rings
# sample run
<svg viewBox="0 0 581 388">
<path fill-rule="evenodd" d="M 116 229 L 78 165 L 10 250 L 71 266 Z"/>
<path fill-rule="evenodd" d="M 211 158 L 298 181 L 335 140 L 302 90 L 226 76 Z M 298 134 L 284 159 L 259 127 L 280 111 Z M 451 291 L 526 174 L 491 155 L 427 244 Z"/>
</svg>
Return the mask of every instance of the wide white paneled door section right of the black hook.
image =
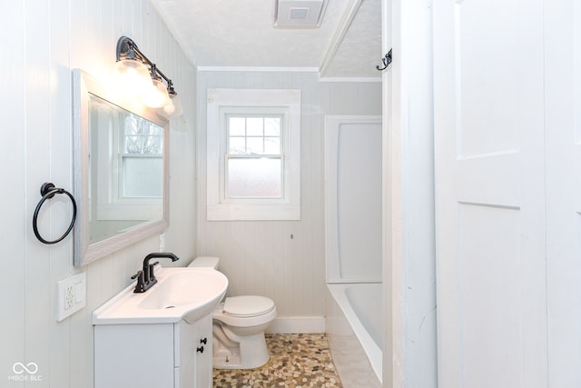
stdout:
<svg viewBox="0 0 581 388">
<path fill-rule="evenodd" d="M 542 7 L 434 2 L 443 388 L 547 387 Z"/>
</svg>

